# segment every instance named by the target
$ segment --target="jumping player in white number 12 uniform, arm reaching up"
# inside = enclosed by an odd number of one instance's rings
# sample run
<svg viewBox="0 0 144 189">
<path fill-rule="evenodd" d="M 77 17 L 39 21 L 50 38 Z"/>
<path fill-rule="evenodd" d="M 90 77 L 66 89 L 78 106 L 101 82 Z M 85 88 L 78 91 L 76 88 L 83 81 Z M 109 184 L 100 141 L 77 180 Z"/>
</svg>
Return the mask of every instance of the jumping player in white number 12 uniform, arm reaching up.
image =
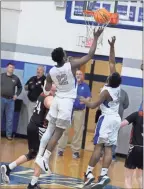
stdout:
<svg viewBox="0 0 144 189">
<path fill-rule="evenodd" d="M 86 64 L 93 58 L 97 47 L 97 40 L 102 32 L 102 27 L 99 27 L 97 31 L 94 31 L 94 40 L 89 53 L 80 59 L 71 59 L 67 62 L 66 53 L 62 48 L 56 48 L 52 52 L 52 59 L 57 63 L 57 66 L 51 68 L 47 76 L 47 85 L 45 89 L 49 91 L 52 82 L 56 85 L 56 96 L 54 97 L 50 111 L 47 115 L 49 121 L 48 127 L 54 127 L 55 131 L 48 142 L 49 131 L 46 130 L 41 139 L 39 153 L 36 158 L 36 163 L 47 173 L 51 172 L 49 168 L 50 155 L 65 129 L 71 124 L 73 103 L 77 95 L 76 80 L 74 77 L 75 71 L 81 65 Z M 46 146 L 47 150 L 44 153 Z"/>
</svg>

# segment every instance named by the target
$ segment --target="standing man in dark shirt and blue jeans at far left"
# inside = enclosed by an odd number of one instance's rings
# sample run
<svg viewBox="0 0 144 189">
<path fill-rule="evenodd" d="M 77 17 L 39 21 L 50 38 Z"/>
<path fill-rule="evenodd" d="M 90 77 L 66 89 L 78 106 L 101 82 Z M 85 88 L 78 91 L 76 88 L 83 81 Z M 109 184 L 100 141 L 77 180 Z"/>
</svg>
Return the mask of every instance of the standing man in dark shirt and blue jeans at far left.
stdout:
<svg viewBox="0 0 144 189">
<path fill-rule="evenodd" d="M 15 66 L 7 64 L 6 73 L 1 74 L 1 120 L 6 116 L 6 137 L 12 140 L 15 100 L 22 91 L 20 79 L 14 75 Z M 17 87 L 17 91 L 15 90 Z"/>
</svg>

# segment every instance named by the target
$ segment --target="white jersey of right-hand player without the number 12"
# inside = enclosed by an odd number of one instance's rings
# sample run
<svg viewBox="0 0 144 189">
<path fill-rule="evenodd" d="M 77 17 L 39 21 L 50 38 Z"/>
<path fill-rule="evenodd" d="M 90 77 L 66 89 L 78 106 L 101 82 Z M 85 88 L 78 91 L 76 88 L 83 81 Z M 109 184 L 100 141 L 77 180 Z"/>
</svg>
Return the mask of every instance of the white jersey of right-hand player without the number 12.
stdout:
<svg viewBox="0 0 144 189">
<path fill-rule="evenodd" d="M 112 101 L 108 102 L 105 100 L 101 105 L 100 109 L 102 114 L 118 114 L 119 111 L 119 104 L 120 104 L 120 87 L 112 88 L 108 85 L 105 85 L 101 93 L 107 90 L 112 98 Z"/>
</svg>

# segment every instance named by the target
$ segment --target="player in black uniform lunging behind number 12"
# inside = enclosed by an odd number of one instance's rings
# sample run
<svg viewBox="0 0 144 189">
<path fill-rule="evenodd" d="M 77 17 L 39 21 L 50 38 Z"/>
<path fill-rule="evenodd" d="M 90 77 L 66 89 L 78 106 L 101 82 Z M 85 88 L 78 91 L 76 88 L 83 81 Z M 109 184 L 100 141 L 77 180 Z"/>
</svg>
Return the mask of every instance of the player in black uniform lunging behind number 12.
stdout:
<svg viewBox="0 0 144 189">
<path fill-rule="evenodd" d="M 52 85 L 49 96 L 53 96 L 55 94 L 56 87 Z M 34 159 L 37 155 L 40 140 L 39 138 L 43 135 L 47 127 L 47 120 L 45 120 L 45 115 L 48 112 L 50 106 L 50 98 L 42 93 L 36 102 L 36 106 L 34 108 L 33 115 L 30 119 L 30 122 L 27 127 L 27 136 L 28 136 L 28 147 L 29 152 L 26 155 L 20 156 L 14 162 L 10 163 L 9 165 L 2 165 L 1 166 L 1 174 L 2 180 L 4 183 L 9 183 L 9 176 L 11 171 L 16 168 L 17 166 Z M 50 128 L 49 128 L 50 130 Z M 53 128 L 50 130 L 50 134 L 53 134 Z M 28 189 L 39 189 L 37 185 L 36 177 L 38 178 L 41 173 L 41 169 L 39 166 L 35 167 L 34 177 L 32 182 L 29 184 Z"/>
</svg>

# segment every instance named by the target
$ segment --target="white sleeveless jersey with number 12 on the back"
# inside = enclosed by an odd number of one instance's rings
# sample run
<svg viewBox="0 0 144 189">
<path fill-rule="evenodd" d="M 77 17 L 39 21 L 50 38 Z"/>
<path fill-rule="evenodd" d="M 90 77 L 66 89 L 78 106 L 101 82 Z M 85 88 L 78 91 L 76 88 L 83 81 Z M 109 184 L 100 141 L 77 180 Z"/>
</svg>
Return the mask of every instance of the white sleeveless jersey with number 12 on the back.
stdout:
<svg viewBox="0 0 144 189">
<path fill-rule="evenodd" d="M 60 98 L 76 98 L 76 79 L 72 73 L 70 62 L 65 63 L 62 67 L 50 69 L 49 74 L 56 85 L 55 95 Z"/>
</svg>

